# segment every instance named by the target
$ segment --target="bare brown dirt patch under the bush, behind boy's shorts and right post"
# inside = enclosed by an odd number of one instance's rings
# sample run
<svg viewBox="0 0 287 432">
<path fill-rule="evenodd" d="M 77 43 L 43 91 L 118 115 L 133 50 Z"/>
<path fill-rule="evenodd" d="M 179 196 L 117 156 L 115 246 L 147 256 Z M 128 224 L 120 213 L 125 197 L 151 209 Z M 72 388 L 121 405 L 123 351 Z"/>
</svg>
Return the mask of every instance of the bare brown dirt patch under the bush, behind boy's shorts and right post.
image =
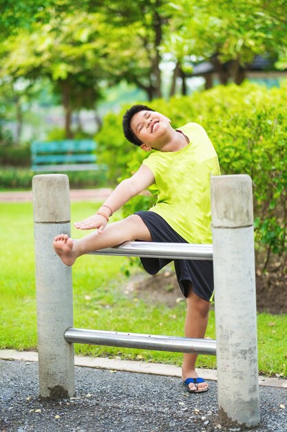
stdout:
<svg viewBox="0 0 287 432">
<path fill-rule="evenodd" d="M 154 276 L 143 272 L 131 276 L 125 294 L 169 307 L 185 301 L 172 268 L 165 268 Z M 276 268 L 270 273 L 257 271 L 256 301 L 258 312 L 287 313 L 287 275 L 280 275 Z"/>
</svg>

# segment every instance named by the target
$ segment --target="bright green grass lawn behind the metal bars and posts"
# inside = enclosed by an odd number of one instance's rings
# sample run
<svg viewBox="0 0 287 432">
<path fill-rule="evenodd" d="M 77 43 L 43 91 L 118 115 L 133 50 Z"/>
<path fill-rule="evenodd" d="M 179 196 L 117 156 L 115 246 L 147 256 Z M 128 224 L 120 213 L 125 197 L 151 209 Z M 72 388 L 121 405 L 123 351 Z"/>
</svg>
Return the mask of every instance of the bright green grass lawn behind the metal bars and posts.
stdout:
<svg viewBox="0 0 287 432">
<path fill-rule="evenodd" d="M 90 202 L 72 203 L 72 222 L 94 213 Z M 36 350 L 36 299 L 32 204 L 0 204 L 0 348 Z M 72 228 L 76 238 L 85 235 Z M 185 304 L 173 308 L 146 304 L 125 295 L 125 257 L 86 255 L 73 266 L 74 326 L 110 331 L 183 335 Z M 179 292 L 180 293 L 180 292 Z M 180 295 L 180 294 L 179 294 Z M 259 371 L 287 376 L 287 315 L 261 313 L 258 322 Z M 215 338 L 211 311 L 206 337 Z M 81 355 L 121 357 L 181 364 L 180 353 L 75 345 Z M 201 355 L 198 366 L 215 368 L 216 358 Z"/>
</svg>

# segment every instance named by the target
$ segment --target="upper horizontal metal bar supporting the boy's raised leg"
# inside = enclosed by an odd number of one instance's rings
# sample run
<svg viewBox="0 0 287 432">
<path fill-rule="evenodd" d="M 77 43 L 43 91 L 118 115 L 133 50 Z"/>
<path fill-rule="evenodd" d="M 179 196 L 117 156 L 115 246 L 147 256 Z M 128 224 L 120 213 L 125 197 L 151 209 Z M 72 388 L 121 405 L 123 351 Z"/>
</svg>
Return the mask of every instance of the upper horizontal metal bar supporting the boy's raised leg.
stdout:
<svg viewBox="0 0 287 432">
<path fill-rule="evenodd" d="M 213 259 L 212 244 L 125 242 L 114 248 L 90 252 L 92 255 L 121 255 L 171 259 Z"/>
</svg>

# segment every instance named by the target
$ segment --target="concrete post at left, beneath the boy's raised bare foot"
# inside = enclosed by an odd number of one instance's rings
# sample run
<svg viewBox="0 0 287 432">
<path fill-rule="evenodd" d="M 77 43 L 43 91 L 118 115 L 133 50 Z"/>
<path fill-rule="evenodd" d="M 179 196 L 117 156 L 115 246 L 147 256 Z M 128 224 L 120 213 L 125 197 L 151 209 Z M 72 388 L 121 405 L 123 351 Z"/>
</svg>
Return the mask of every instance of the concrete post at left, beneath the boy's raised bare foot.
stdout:
<svg viewBox="0 0 287 432">
<path fill-rule="evenodd" d="M 52 247 L 56 235 L 70 235 L 70 188 L 63 174 L 36 175 L 32 181 L 36 303 L 41 397 L 72 397 L 74 346 L 64 340 L 73 325 L 72 270 Z"/>
</svg>

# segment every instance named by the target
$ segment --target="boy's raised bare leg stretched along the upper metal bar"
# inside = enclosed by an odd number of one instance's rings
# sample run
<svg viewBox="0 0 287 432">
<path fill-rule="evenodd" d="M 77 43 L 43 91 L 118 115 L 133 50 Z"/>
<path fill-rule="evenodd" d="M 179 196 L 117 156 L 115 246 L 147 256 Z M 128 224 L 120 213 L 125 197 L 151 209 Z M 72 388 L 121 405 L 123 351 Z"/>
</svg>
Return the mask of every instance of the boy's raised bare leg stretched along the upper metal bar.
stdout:
<svg viewBox="0 0 287 432">
<path fill-rule="evenodd" d="M 138 215 L 131 215 L 120 222 L 109 224 L 103 233 L 99 234 L 98 231 L 94 231 L 76 242 L 67 235 L 57 235 L 54 238 L 53 246 L 63 263 L 72 266 L 76 259 L 85 253 L 111 248 L 132 240 L 151 242 L 149 229 Z"/>
</svg>

